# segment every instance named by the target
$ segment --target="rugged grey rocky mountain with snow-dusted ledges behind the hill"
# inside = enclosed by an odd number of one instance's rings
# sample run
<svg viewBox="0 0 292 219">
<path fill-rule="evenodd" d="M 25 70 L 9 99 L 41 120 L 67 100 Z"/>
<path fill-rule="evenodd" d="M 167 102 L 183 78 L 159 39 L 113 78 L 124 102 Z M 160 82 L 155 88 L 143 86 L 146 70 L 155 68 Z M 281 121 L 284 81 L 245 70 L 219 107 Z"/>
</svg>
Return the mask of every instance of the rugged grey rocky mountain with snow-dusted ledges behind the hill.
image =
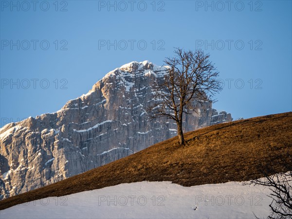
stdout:
<svg viewBox="0 0 292 219">
<path fill-rule="evenodd" d="M 172 120 L 148 121 L 154 80 L 164 67 L 131 62 L 54 113 L 0 128 L 0 199 L 108 164 L 177 135 Z M 211 103 L 187 115 L 184 130 L 232 121 Z"/>
</svg>

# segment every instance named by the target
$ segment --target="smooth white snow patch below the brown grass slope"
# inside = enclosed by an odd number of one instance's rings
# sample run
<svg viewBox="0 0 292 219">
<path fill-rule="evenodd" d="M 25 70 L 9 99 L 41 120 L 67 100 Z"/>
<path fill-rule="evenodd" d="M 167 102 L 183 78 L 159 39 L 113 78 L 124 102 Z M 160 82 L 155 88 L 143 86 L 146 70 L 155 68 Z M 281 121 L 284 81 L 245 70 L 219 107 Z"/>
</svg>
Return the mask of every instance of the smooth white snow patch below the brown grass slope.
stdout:
<svg viewBox="0 0 292 219">
<path fill-rule="evenodd" d="M 183 187 L 125 183 L 0 211 L 0 218 L 258 218 L 270 214 L 269 188 L 239 182 Z"/>
</svg>

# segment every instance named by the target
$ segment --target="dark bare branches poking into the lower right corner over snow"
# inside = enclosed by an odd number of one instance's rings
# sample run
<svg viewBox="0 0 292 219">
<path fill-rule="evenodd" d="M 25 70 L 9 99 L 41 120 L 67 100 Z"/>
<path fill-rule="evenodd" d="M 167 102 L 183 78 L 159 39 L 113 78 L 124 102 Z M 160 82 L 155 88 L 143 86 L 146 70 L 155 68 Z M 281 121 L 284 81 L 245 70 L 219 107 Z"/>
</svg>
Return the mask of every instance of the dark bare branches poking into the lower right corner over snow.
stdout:
<svg viewBox="0 0 292 219">
<path fill-rule="evenodd" d="M 287 172 L 276 173 L 274 166 L 280 166 Z M 264 178 L 252 180 L 251 184 L 268 186 L 271 194 L 268 197 L 273 201 L 269 205 L 271 215 L 269 219 L 292 219 L 292 155 L 280 154 L 273 164 L 261 164 L 258 167 Z M 274 175 L 272 175 L 274 174 Z"/>
</svg>

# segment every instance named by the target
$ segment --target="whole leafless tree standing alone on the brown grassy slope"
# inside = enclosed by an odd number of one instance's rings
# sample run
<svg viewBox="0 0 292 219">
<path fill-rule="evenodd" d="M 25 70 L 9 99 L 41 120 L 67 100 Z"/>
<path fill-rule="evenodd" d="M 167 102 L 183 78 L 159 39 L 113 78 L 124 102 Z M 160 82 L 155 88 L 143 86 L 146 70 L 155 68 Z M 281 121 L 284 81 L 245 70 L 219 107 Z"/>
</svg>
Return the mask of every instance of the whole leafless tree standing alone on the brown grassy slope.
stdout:
<svg viewBox="0 0 292 219">
<path fill-rule="evenodd" d="M 221 90 L 219 72 L 209 61 L 209 54 L 201 50 L 184 51 L 175 48 L 175 56 L 164 60 L 167 74 L 156 81 L 154 104 L 147 111 L 151 118 L 167 117 L 177 124 L 179 143 L 184 145 L 183 113 L 190 114 L 203 102 L 214 102 L 212 97 Z"/>
</svg>

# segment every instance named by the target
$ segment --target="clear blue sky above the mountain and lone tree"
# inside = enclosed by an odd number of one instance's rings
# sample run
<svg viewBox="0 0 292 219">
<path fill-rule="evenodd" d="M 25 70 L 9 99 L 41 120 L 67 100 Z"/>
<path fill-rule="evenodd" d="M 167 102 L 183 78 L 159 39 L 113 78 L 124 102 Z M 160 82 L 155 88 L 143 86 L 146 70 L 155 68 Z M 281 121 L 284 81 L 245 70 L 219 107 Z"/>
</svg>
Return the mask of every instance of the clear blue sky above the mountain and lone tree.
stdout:
<svg viewBox="0 0 292 219">
<path fill-rule="evenodd" d="M 225 81 L 216 109 L 233 118 L 292 110 L 290 0 L 110 1 L 110 8 L 94 0 L 0 3 L 1 126 L 59 110 L 123 64 L 162 65 L 173 47 L 201 44 Z M 115 40 L 116 50 L 104 46 Z"/>
</svg>

